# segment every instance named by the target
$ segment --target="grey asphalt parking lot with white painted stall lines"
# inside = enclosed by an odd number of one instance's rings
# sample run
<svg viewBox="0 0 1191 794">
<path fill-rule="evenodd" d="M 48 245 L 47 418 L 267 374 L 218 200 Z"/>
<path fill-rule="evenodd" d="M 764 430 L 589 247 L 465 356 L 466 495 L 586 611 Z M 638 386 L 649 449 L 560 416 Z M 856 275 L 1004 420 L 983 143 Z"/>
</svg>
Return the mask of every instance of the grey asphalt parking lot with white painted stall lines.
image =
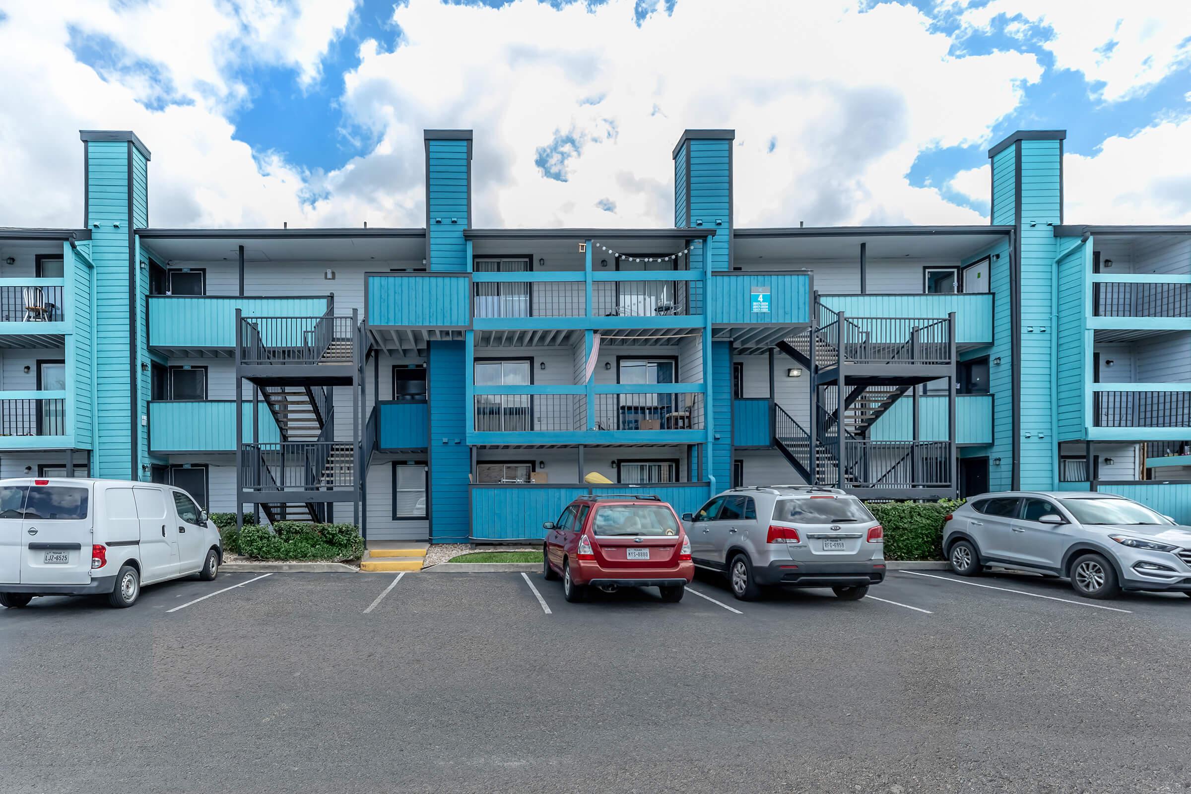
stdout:
<svg viewBox="0 0 1191 794">
<path fill-rule="evenodd" d="M 869 593 L 236 573 L 35 599 L 0 611 L 0 790 L 1185 790 L 1191 599 Z"/>
</svg>

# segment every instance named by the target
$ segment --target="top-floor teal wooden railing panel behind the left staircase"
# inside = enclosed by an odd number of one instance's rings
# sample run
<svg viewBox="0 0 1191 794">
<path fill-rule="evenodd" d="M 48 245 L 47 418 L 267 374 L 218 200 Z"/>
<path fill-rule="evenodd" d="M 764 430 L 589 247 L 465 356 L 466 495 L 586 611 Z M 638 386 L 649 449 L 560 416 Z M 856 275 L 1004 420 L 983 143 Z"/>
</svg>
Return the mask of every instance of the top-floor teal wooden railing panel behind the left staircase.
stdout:
<svg viewBox="0 0 1191 794">
<path fill-rule="evenodd" d="M 149 306 L 149 346 L 232 348 L 236 310 L 244 317 L 322 317 L 325 298 L 238 298 L 235 295 L 154 295 Z"/>
</svg>

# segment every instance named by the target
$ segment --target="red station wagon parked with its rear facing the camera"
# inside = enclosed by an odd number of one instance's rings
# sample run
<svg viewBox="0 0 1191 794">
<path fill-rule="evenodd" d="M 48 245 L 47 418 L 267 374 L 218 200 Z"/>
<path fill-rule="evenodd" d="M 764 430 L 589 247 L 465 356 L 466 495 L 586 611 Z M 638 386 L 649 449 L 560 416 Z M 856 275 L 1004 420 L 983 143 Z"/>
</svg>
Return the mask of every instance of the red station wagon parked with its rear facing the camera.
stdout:
<svg viewBox="0 0 1191 794">
<path fill-rule="evenodd" d="M 580 496 L 547 521 L 542 576 L 562 577 L 562 594 L 581 601 L 588 587 L 656 587 L 681 601 L 694 579 L 691 542 L 674 508 L 640 494 Z"/>
</svg>

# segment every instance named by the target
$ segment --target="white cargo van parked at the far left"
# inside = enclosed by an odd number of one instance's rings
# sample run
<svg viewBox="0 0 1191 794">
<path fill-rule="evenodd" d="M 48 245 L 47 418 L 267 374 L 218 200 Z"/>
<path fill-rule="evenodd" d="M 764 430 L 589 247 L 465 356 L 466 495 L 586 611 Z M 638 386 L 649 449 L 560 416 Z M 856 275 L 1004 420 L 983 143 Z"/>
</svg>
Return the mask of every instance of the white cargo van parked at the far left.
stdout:
<svg viewBox="0 0 1191 794">
<path fill-rule="evenodd" d="M 87 551 L 91 551 L 88 555 Z M 0 605 L 35 595 L 107 595 L 219 573 L 219 530 L 180 488 L 131 480 L 0 480 Z"/>
</svg>

